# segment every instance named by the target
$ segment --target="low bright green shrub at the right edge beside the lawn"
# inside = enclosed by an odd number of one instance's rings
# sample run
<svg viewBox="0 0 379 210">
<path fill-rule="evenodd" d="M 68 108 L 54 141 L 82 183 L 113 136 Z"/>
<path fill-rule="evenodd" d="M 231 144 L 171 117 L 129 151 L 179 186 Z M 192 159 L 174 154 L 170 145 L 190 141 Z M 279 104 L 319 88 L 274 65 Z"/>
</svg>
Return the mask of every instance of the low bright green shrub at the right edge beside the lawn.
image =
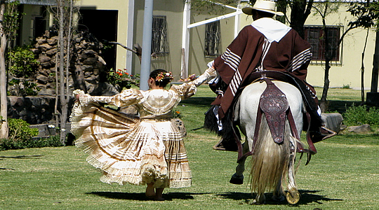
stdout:
<svg viewBox="0 0 379 210">
<path fill-rule="evenodd" d="M 375 107 L 350 106 L 343 114 L 343 122 L 347 126 L 368 124 L 371 127 L 379 127 L 379 109 Z"/>
</svg>

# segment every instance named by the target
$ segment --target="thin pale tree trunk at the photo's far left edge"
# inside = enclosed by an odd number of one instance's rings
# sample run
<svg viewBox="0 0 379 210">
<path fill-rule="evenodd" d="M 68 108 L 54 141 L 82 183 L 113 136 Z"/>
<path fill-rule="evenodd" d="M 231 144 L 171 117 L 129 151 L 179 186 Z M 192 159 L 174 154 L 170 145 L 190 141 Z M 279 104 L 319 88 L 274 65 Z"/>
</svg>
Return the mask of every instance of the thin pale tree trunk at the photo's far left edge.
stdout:
<svg viewBox="0 0 379 210">
<path fill-rule="evenodd" d="M 6 1 L 0 1 L 0 115 L 1 115 L 1 129 L 0 139 L 8 139 L 8 102 L 6 99 L 6 34 L 4 34 L 4 12 Z"/>
</svg>

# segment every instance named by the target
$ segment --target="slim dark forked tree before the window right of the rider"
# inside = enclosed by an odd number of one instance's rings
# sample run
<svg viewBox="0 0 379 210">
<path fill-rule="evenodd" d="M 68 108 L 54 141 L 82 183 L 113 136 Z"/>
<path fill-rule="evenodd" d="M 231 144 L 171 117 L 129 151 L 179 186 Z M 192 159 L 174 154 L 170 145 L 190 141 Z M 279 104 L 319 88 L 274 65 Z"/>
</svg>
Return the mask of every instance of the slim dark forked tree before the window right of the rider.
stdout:
<svg viewBox="0 0 379 210">
<path fill-rule="evenodd" d="M 322 25 L 323 25 L 323 31 L 324 31 L 324 62 L 325 62 L 325 72 L 324 72 L 324 87 L 321 95 L 321 100 L 320 100 L 320 108 L 322 112 L 325 112 L 327 109 L 326 106 L 326 97 L 328 95 L 328 88 L 330 85 L 330 80 L 329 80 L 329 71 L 331 69 L 331 60 L 333 57 L 335 57 L 335 50 L 340 46 L 340 44 L 343 41 L 343 38 L 347 36 L 348 32 L 351 31 L 352 29 L 356 29 L 357 27 L 365 27 L 369 28 L 371 27 L 374 22 L 373 18 L 369 18 L 371 16 L 371 13 L 366 10 L 364 13 L 352 13 L 354 15 L 354 20 L 351 20 L 345 29 L 343 31 L 342 36 L 338 39 L 336 42 L 332 42 L 330 39 L 330 36 L 328 36 L 329 29 L 326 26 L 326 17 L 330 15 L 331 13 L 336 13 L 338 12 L 338 9 L 340 7 L 340 3 L 337 2 L 331 2 L 331 1 L 324 1 L 321 3 L 318 3 L 317 6 L 314 6 L 314 9 L 316 12 L 321 16 L 322 20 Z M 347 10 L 347 11 L 350 11 Z"/>
</svg>

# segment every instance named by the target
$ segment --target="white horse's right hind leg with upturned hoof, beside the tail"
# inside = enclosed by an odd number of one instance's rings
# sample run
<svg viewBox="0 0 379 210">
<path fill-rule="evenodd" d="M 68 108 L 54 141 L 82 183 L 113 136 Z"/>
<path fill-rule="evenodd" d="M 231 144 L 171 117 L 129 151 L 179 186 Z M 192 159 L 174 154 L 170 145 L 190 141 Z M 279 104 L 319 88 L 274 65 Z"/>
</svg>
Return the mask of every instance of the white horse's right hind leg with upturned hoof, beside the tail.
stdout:
<svg viewBox="0 0 379 210">
<path fill-rule="evenodd" d="M 290 162 L 288 163 L 288 192 L 286 195 L 289 204 L 297 204 L 300 200 L 300 193 L 296 188 L 295 182 L 295 155 L 296 155 L 296 141 L 294 138 L 289 138 L 291 142 L 291 155 Z"/>
</svg>

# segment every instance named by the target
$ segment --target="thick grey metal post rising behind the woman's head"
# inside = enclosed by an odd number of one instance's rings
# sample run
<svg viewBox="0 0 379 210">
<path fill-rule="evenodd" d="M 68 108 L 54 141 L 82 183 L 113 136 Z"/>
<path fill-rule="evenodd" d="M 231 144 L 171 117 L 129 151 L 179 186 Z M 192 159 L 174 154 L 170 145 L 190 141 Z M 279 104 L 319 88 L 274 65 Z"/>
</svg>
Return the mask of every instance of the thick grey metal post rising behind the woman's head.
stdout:
<svg viewBox="0 0 379 210">
<path fill-rule="evenodd" d="M 153 0 L 145 0 L 145 13 L 143 15 L 142 59 L 140 73 L 140 90 L 149 90 L 147 80 L 150 74 L 152 55 L 152 12 Z"/>
</svg>

